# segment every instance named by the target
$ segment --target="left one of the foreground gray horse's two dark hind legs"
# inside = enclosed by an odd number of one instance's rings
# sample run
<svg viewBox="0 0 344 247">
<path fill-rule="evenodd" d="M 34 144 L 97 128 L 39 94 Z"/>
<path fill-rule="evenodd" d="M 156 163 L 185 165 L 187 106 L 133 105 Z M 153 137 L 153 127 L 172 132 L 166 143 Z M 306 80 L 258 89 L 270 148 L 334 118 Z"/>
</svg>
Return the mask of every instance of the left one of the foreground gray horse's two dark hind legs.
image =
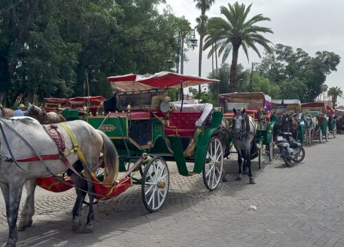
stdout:
<svg viewBox="0 0 344 247">
<path fill-rule="evenodd" d="M 85 180 L 80 178 L 76 174 L 72 174 L 70 176 L 74 181 L 76 187 L 81 189 L 87 189 L 85 186 Z M 86 192 L 80 191 L 80 189 L 76 189 L 76 201 L 73 207 L 73 220 L 72 220 L 72 231 L 78 231 L 81 226 L 81 208 L 83 207 L 83 200 L 85 200 Z"/>
</svg>

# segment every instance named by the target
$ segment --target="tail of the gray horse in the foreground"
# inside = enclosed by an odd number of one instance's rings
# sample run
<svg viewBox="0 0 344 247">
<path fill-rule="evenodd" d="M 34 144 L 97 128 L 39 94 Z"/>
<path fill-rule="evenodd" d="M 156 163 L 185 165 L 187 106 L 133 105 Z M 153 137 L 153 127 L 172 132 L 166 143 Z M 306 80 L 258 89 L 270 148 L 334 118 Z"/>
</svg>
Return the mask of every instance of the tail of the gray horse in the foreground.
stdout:
<svg viewBox="0 0 344 247">
<path fill-rule="evenodd" d="M 103 131 L 98 130 L 98 133 L 103 138 L 102 152 L 104 154 L 105 169 L 107 171 L 104 183 L 113 183 L 120 169 L 117 150 L 114 143 Z"/>
</svg>

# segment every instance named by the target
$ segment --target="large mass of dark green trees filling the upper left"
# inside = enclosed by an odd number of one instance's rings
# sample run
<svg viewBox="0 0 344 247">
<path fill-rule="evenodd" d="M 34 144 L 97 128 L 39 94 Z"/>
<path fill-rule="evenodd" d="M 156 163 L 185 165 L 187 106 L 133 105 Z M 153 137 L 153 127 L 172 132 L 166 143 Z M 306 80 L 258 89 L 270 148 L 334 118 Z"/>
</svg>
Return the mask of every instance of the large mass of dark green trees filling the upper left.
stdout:
<svg viewBox="0 0 344 247">
<path fill-rule="evenodd" d="M 1 12 L 0 102 L 12 104 L 21 93 L 27 101 L 83 96 L 92 70 L 98 82 L 91 94 L 109 97 L 110 75 L 168 70 L 178 31 L 190 23 L 169 9 L 159 14 L 163 2 L 23 0 Z M 0 10 L 9 6 L 0 2 Z"/>
</svg>

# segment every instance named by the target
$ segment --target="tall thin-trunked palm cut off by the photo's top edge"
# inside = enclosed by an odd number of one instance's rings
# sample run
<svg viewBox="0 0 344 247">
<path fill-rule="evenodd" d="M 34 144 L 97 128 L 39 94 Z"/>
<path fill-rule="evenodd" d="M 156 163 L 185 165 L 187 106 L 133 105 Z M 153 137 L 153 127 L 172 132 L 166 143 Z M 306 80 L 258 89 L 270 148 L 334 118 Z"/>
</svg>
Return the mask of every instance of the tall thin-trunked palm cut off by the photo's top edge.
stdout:
<svg viewBox="0 0 344 247">
<path fill-rule="evenodd" d="M 198 34 L 200 34 L 200 53 L 198 54 L 198 76 L 202 76 L 202 52 L 203 52 L 203 38 L 205 34 L 205 21 L 206 18 L 206 10 L 210 10 L 211 5 L 215 3 L 215 0 L 193 0 L 196 3 L 196 8 L 201 10 L 200 16 L 200 28 L 197 30 Z M 197 20 L 197 19 L 196 19 Z M 199 93 L 201 93 L 201 86 L 198 87 Z"/>
</svg>

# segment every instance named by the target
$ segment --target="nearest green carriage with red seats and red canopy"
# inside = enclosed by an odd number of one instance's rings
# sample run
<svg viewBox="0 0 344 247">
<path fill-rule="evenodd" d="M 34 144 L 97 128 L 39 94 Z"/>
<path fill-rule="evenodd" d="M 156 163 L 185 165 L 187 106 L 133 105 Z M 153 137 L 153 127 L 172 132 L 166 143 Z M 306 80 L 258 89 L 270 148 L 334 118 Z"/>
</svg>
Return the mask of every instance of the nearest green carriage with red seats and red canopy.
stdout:
<svg viewBox="0 0 344 247">
<path fill-rule="evenodd" d="M 142 184 L 142 200 L 149 211 L 158 211 L 166 199 L 166 161 L 175 161 L 182 176 L 202 173 L 209 191 L 217 188 L 224 169 L 222 113 L 212 104 L 169 102 L 166 96 L 171 87 L 180 88 L 183 95 L 185 87 L 217 80 L 169 72 L 107 80 L 115 93 L 104 102 L 105 115 L 89 116 L 87 121 L 114 142 L 122 172 L 134 180 L 134 174 L 141 174 L 136 181 Z"/>
</svg>

